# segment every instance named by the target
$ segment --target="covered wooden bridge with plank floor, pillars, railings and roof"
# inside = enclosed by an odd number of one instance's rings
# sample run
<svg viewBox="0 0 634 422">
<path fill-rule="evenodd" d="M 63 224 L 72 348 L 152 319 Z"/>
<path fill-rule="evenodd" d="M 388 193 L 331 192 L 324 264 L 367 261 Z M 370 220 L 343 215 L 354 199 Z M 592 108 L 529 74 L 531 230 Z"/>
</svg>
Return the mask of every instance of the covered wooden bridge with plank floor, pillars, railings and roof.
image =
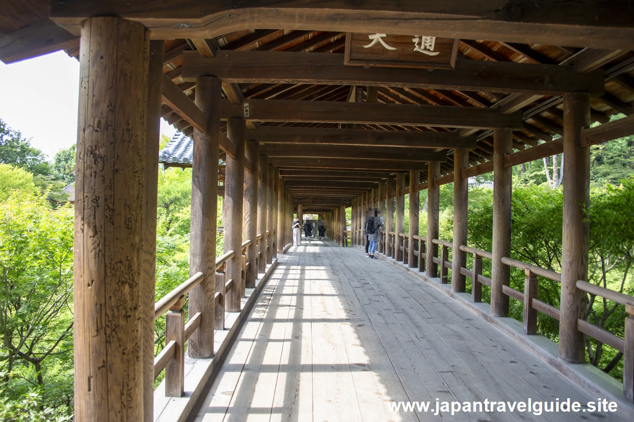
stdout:
<svg viewBox="0 0 634 422">
<path fill-rule="evenodd" d="M 631 420 L 634 298 L 587 283 L 584 212 L 590 146 L 634 133 L 632 2 L 246 3 L 0 10 L 0 60 L 64 49 L 81 66 L 76 420 L 515 421 L 534 413 L 387 406 L 554 397 L 587 412 L 544 420 Z M 610 122 L 616 113 L 626 117 Z M 155 303 L 160 118 L 193 139 L 166 162 L 193 171 L 191 278 Z M 558 153 L 561 274 L 509 258 L 511 167 Z M 493 250 L 483 251 L 467 239 L 467 181 L 488 172 Z M 438 210 L 451 182 L 449 243 Z M 363 244 L 368 208 L 385 212 L 378 252 L 396 266 L 337 247 Z M 302 213 L 325 219 L 330 240 L 289 249 Z M 509 287 L 510 267 L 526 272 L 524 291 Z M 561 284 L 560 309 L 537 299 L 537 276 Z M 588 293 L 625 305 L 624 338 L 585 321 Z M 523 324 L 508 318 L 509 297 L 524 303 Z M 537 312 L 559 321 L 558 346 L 536 333 Z M 623 385 L 584 364 L 586 335 L 623 352 Z M 592 411 L 597 397 L 619 412 Z"/>
</svg>

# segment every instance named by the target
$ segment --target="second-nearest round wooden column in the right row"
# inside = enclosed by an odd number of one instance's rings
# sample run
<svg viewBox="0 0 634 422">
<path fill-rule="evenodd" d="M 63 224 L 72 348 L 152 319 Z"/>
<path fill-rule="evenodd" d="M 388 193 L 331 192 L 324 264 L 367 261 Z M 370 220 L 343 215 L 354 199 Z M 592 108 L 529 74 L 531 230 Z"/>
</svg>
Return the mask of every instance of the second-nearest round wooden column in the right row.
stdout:
<svg viewBox="0 0 634 422">
<path fill-rule="evenodd" d="M 502 286 L 510 283 L 510 267 L 502 257 L 511 253 L 512 167 L 504 167 L 504 157 L 513 151 L 513 131 L 493 129 L 493 259 L 491 268 L 491 315 L 508 316 L 508 296 Z"/>
</svg>

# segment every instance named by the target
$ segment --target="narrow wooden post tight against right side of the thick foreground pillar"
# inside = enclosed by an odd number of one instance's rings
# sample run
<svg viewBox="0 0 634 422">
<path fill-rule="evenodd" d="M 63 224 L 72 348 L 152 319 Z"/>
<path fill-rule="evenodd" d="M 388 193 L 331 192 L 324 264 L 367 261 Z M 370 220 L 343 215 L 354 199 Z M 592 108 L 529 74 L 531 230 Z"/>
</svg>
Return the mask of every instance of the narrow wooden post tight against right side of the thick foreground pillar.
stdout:
<svg viewBox="0 0 634 422">
<path fill-rule="evenodd" d="M 143 211 L 143 418 L 152 422 L 154 399 L 154 298 L 156 285 L 157 193 L 159 183 L 160 95 L 164 41 L 150 41 Z"/>
</svg>

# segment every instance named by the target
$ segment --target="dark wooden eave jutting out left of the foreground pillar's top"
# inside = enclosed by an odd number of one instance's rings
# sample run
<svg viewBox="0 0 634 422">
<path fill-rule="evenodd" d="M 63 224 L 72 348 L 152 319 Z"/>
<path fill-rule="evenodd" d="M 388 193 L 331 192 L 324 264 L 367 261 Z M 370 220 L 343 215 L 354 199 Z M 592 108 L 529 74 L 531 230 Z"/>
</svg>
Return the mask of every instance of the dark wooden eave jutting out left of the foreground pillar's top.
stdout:
<svg viewBox="0 0 634 422">
<path fill-rule="evenodd" d="M 76 48 L 79 47 L 77 35 L 46 18 L 9 34 L 0 34 L 0 60 L 8 65 L 53 51 Z"/>
</svg>

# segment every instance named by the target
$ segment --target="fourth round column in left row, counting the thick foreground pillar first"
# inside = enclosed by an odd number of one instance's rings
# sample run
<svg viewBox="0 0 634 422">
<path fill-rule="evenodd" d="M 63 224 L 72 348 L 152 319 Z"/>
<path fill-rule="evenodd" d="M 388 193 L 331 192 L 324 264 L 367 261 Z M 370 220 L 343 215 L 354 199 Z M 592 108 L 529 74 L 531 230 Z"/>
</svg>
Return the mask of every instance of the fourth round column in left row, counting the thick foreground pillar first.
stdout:
<svg viewBox="0 0 634 422">
<path fill-rule="evenodd" d="M 257 279 L 257 185 L 258 174 L 260 172 L 259 143 L 257 141 L 247 141 L 245 150 L 247 159 L 253 164 L 252 172 L 245 170 L 244 179 L 244 237 L 246 240 L 251 241 L 251 245 L 247 248 L 249 269 L 246 274 L 245 286 L 254 288 Z"/>
</svg>

